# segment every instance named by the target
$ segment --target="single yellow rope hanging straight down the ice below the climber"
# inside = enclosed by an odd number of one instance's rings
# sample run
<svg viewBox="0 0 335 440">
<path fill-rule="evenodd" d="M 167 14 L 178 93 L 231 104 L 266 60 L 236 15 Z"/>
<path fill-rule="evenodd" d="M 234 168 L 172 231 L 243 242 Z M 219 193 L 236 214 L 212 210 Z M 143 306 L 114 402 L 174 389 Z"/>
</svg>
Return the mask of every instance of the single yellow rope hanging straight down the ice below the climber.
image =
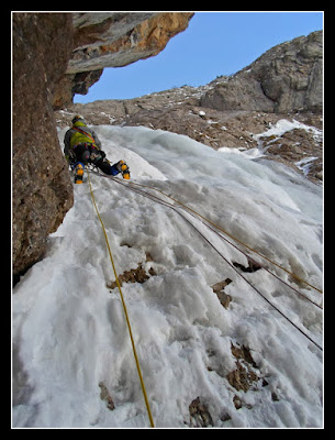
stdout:
<svg viewBox="0 0 335 440">
<path fill-rule="evenodd" d="M 98 218 L 99 218 L 100 223 L 101 223 L 101 228 L 102 228 L 103 235 L 104 235 L 104 239 L 105 239 L 105 243 L 107 243 L 107 248 L 108 248 L 108 251 L 109 251 L 110 260 L 111 260 L 111 263 L 112 263 L 112 266 L 113 266 L 115 282 L 116 282 L 116 285 L 118 285 L 118 288 L 119 288 L 119 293 L 120 293 L 120 297 L 121 297 L 121 301 L 122 301 L 122 306 L 123 306 L 123 311 L 124 311 L 124 316 L 125 316 L 129 333 L 130 333 L 131 341 L 132 341 L 133 353 L 134 353 L 134 358 L 135 358 L 136 369 L 137 369 L 137 373 L 138 373 L 138 377 L 139 377 L 139 382 L 141 382 L 141 387 L 142 387 L 143 397 L 144 397 L 144 400 L 145 400 L 148 418 L 149 418 L 152 428 L 154 428 L 155 427 L 154 419 L 153 419 L 153 415 L 152 415 L 152 411 L 150 411 L 150 406 L 149 406 L 149 402 L 148 402 L 148 398 L 147 398 L 147 394 L 146 394 L 146 389 L 145 389 L 145 385 L 144 385 L 144 381 L 143 381 L 143 376 L 142 376 L 142 372 L 141 372 L 141 366 L 139 366 L 139 362 L 138 362 L 138 358 L 137 358 L 137 353 L 136 353 L 136 348 L 135 348 L 135 342 L 134 342 L 134 338 L 133 338 L 133 332 L 132 332 L 132 327 L 131 327 L 127 309 L 126 309 L 126 306 L 125 306 L 125 302 L 124 302 L 124 298 L 123 298 L 121 285 L 120 285 L 120 282 L 119 282 L 118 273 L 116 273 L 116 270 L 115 270 L 114 260 L 113 260 L 113 255 L 112 255 L 112 252 L 111 252 L 110 243 L 109 243 L 109 240 L 108 240 L 108 237 L 107 237 L 105 228 L 104 228 L 103 221 L 101 219 L 101 216 L 99 213 L 99 210 L 98 210 L 98 207 L 97 207 L 97 204 L 96 204 L 96 198 L 94 198 L 94 195 L 93 195 L 92 185 L 91 185 L 91 180 L 90 180 L 90 173 L 88 172 L 87 174 L 88 174 L 88 182 L 89 182 L 89 185 L 90 185 L 91 198 L 92 198 L 92 201 L 93 201 Z"/>
</svg>

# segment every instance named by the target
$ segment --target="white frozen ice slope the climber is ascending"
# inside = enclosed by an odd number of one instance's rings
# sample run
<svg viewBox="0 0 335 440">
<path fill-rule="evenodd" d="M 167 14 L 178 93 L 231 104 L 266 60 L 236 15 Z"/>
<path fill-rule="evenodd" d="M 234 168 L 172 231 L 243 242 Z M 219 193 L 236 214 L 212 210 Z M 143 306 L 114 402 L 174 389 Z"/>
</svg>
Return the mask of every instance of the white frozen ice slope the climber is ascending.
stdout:
<svg viewBox="0 0 335 440">
<path fill-rule="evenodd" d="M 127 162 L 133 182 L 171 195 L 322 287 L 320 186 L 281 164 L 160 130 L 94 130 L 112 162 Z M 322 426 L 322 351 L 177 212 L 108 178 L 91 175 L 91 182 L 119 274 L 139 263 L 155 271 L 144 284 L 122 287 L 155 426 L 197 425 L 189 410 L 197 397 L 215 427 Z M 14 288 L 13 426 L 148 427 L 119 292 L 108 287 L 114 275 L 89 185 L 74 189 L 75 205 L 49 237 L 45 258 Z M 248 266 L 236 249 L 188 218 L 231 264 Z M 322 304 L 320 293 L 250 256 Z M 243 276 L 322 345 L 321 309 L 263 268 Z M 211 286 L 227 278 L 232 301 L 224 308 Z M 241 375 L 241 365 L 256 375 L 246 392 L 228 381 L 238 371 L 232 344 L 247 348 L 254 360 L 239 360 Z"/>
</svg>

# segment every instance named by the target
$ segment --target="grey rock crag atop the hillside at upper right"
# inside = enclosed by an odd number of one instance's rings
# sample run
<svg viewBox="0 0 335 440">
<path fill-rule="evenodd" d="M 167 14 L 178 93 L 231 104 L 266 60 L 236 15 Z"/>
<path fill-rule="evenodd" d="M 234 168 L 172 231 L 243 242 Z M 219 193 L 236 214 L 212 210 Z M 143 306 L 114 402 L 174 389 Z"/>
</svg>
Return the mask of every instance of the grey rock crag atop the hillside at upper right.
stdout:
<svg viewBox="0 0 335 440">
<path fill-rule="evenodd" d="M 272 47 L 232 77 L 222 77 L 200 105 L 216 110 L 322 112 L 323 33 Z"/>
</svg>

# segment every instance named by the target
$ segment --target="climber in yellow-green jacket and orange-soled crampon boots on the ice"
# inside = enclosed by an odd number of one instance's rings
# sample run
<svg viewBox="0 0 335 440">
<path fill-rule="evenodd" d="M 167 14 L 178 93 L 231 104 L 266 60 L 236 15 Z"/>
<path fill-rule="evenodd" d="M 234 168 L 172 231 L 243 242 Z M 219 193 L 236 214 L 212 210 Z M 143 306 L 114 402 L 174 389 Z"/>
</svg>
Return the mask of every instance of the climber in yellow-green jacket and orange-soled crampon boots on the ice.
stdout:
<svg viewBox="0 0 335 440">
<path fill-rule="evenodd" d="M 93 164 L 104 174 L 130 178 L 130 169 L 125 162 L 119 161 L 111 165 L 101 150 L 101 142 L 93 130 L 89 129 L 83 118 L 77 114 L 72 119 L 72 127 L 65 133 L 64 154 L 72 170 L 75 184 L 82 184 L 85 165 Z"/>
</svg>

